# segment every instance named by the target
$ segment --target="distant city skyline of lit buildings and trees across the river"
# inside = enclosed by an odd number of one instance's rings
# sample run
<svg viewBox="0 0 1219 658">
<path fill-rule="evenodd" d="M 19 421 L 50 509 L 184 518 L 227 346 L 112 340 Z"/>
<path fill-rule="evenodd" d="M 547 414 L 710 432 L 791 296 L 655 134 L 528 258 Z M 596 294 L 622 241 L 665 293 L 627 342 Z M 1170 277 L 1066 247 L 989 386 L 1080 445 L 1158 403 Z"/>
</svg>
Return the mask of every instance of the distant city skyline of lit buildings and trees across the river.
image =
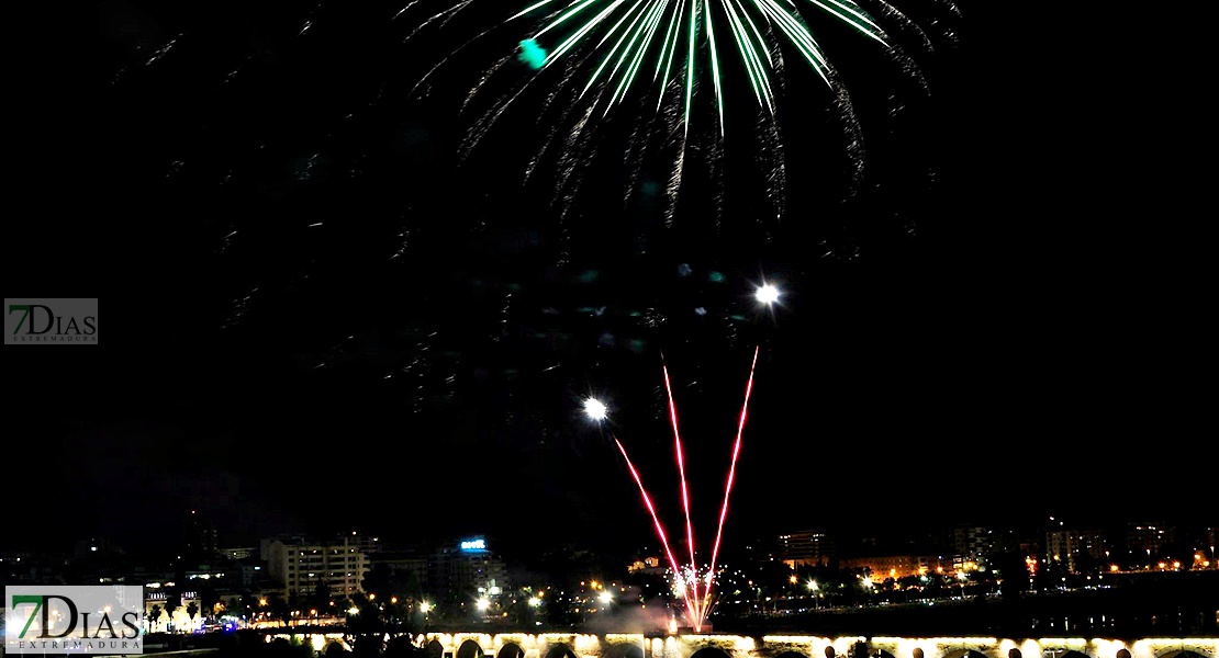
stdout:
<svg viewBox="0 0 1219 658">
<path fill-rule="evenodd" d="M 223 574 L 232 569 L 250 570 L 262 564 L 269 570 L 263 577 L 285 585 L 289 590 L 304 586 L 305 574 L 289 564 L 296 561 L 297 546 L 302 559 L 334 561 L 340 569 L 339 585 L 347 595 L 362 591 L 364 572 L 378 564 L 391 568 L 424 569 L 432 563 L 447 561 L 490 561 L 497 570 L 514 574 L 535 574 L 552 578 L 568 569 L 588 579 L 613 578 L 619 572 L 670 572 L 664 550 L 658 544 L 639 545 L 624 551 L 603 550 L 580 538 L 566 538 L 534 545 L 519 535 L 469 533 L 462 535 L 401 536 L 377 532 L 340 530 L 312 533 L 275 533 L 250 538 L 226 536 L 212 519 L 191 512 L 174 519 L 163 519 L 155 546 L 135 542 L 128 550 L 113 535 L 82 538 L 69 546 L 29 547 L 18 544 L 4 546 L 0 562 L 23 580 L 45 573 L 55 575 L 63 568 L 100 569 L 111 578 L 144 578 L 182 580 L 199 574 Z M 375 530 L 375 529 L 372 529 Z M 1036 527 L 956 525 L 908 527 L 891 525 L 862 529 L 856 527 L 819 527 L 786 529 L 781 534 L 744 538 L 737 550 L 720 555 L 717 569 L 736 573 L 740 569 L 817 570 L 869 568 L 874 574 L 901 567 L 909 575 L 919 563 L 946 566 L 948 575 L 958 569 L 998 570 L 1012 568 L 1012 561 L 1030 575 L 1050 563 L 1061 562 L 1064 573 L 1145 573 L 1214 569 L 1214 525 L 1199 523 L 1173 524 L 1079 524 L 1050 518 Z M 338 547 L 333 550 L 333 547 Z M 678 550 L 684 546 L 678 544 Z M 313 557 L 308 557 L 313 556 Z M 329 556 L 329 557 L 328 557 Z M 334 557 L 338 556 L 338 557 Z M 727 557 L 725 557 L 727 556 Z M 707 555 L 697 556 L 703 562 Z M 22 561 L 26 561 L 22 564 Z M 344 578 L 343 564 L 350 562 Z M 226 567 L 227 564 L 227 567 Z M 1040 564 L 1040 566 L 1039 566 Z M 27 570 L 27 569 L 38 569 Z M 48 570 L 49 569 L 49 570 Z M 116 570 L 117 569 L 117 570 Z M 317 566 L 313 570 L 325 570 Z M 441 569 L 444 570 L 444 569 Z M 178 573 L 182 572 L 182 573 Z M 73 573 L 76 573 L 73 570 Z M 172 575 L 178 573 L 177 577 Z M 568 575 L 573 575 L 569 573 Z M 772 573 L 783 574 L 784 570 Z M 194 577 L 189 574 L 196 574 Z M 78 574 L 79 575 L 79 574 Z M 249 577 L 251 574 L 246 574 Z M 257 574 L 252 574 L 257 575 Z M 619 574 L 622 575 L 622 574 Z M 501 574 L 502 577 L 502 574 Z M 45 575 L 43 577 L 45 578 Z M 217 575 L 219 578 L 219 575 Z M 244 577 L 245 578 L 245 577 Z M 286 580 L 285 580 L 286 579 Z M 301 579 L 297 581 L 297 579 Z M 786 575 L 784 575 L 786 579 Z M 250 584 L 246 583 L 246 586 Z M 190 585 L 185 585 L 188 589 Z M 234 586 L 229 584 L 229 586 Z M 240 587 L 239 587 L 240 589 Z"/>
</svg>

